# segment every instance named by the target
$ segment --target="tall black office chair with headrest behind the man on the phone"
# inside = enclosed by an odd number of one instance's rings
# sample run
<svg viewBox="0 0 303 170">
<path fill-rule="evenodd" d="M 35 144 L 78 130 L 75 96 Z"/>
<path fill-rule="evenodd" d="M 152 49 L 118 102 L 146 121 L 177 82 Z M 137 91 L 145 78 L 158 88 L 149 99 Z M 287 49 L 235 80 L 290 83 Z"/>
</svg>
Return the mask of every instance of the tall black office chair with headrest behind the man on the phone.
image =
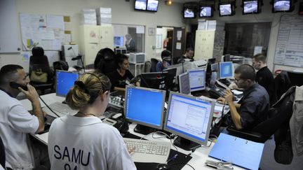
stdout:
<svg viewBox="0 0 303 170">
<path fill-rule="evenodd" d="M 32 71 L 36 71 L 41 69 L 44 73 L 47 73 L 47 82 L 40 83 L 31 81 L 30 85 L 34 86 L 36 90 L 40 90 L 42 94 L 44 94 L 46 89 L 53 90 L 53 72 L 50 70 L 50 66 L 48 64 L 48 58 L 44 55 L 44 50 L 41 47 L 32 48 L 32 56 L 29 58 L 29 76 Z"/>
</svg>

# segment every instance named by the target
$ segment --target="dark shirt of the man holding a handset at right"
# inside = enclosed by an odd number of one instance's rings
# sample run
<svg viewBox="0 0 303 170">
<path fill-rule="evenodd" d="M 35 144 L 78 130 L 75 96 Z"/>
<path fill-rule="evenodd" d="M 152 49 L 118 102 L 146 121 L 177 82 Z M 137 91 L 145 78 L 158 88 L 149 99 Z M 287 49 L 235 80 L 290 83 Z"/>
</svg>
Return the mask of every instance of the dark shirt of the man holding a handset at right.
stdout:
<svg viewBox="0 0 303 170">
<path fill-rule="evenodd" d="M 239 113 L 243 129 L 252 129 L 260 122 L 267 120 L 269 111 L 269 94 L 257 83 L 243 92 L 239 101 Z"/>
</svg>

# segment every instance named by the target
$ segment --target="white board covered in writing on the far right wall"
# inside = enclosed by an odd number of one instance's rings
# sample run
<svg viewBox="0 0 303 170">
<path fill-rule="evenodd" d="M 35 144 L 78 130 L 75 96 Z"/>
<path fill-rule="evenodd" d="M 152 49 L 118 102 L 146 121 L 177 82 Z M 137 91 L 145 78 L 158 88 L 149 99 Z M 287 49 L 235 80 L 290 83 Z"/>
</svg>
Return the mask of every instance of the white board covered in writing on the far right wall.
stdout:
<svg viewBox="0 0 303 170">
<path fill-rule="evenodd" d="M 303 16 L 281 17 L 274 64 L 303 67 Z"/>
</svg>

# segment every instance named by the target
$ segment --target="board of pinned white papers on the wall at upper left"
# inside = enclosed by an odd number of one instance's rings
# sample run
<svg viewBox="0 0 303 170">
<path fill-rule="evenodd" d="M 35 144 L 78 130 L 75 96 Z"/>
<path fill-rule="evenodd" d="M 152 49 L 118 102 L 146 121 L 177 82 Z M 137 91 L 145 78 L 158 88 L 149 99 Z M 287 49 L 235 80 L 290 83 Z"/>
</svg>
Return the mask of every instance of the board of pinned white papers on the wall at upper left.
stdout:
<svg viewBox="0 0 303 170">
<path fill-rule="evenodd" d="M 19 17 L 23 51 L 34 46 L 61 50 L 62 44 L 71 41 L 69 16 L 20 13 Z"/>
</svg>

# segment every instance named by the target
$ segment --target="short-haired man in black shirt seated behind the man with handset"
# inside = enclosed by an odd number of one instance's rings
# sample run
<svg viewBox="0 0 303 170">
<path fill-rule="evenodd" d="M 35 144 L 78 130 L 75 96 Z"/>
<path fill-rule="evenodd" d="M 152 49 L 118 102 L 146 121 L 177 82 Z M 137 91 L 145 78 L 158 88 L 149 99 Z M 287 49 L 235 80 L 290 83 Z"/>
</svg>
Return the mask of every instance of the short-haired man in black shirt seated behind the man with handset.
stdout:
<svg viewBox="0 0 303 170">
<path fill-rule="evenodd" d="M 255 80 L 259 85 L 262 85 L 268 92 L 269 97 L 271 97 L 271 85 L 274 83 L 274 76 L 271 71 L 267 68 L 266 57 L 262 54 L 257 54 L 253 56 L 253 66 L 257 70 Z"/>
</svg>

